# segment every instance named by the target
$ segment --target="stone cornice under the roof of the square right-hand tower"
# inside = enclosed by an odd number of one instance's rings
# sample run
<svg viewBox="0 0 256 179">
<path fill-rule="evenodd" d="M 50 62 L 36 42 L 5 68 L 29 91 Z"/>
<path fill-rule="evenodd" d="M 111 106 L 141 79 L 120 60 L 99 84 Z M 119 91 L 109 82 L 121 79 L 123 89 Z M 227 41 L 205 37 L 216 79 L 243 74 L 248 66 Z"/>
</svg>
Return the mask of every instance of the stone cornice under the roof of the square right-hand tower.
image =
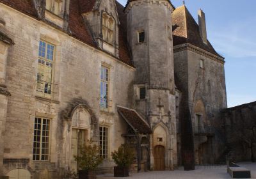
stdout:
<svg viewBox="0 0 256 179">
<path fill-rule="evenodd" d="M 200 54 L 202 56 L 205 56 L 207 58 L 210 58 L 214 61 L 217 61 L 218 63 L 224 64 L 225 58 L 221 58 L 220 56 L 216 56 L 214 54 L 212 54 L 211 52 L 207 52 L 204 49 L 201 49 L 199 47 L 196 47 L 195 45 L 192 45 L 190 43 L 184 43 L 182 45 L 176 45 L 173 47 L 173 52 L 180 52 L 180 51 L 191 51 L 191 52 L 195 52 L 197 54 Z"/>
</svg>

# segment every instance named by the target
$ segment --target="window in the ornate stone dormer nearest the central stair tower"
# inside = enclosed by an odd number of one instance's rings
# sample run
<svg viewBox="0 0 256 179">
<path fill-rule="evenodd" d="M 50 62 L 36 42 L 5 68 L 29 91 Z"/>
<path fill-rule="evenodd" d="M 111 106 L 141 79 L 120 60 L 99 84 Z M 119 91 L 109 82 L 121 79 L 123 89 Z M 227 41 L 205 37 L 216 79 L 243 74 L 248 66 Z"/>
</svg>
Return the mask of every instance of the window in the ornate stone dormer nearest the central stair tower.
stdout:
<svg viewBox="0 0 256 179">
<path fill-rule="evenodd" d="M 103 40 L 108 43 L 113 43 L 115 20 L 107 13 L 102 14 L 102 36 Z"/>
</svg>

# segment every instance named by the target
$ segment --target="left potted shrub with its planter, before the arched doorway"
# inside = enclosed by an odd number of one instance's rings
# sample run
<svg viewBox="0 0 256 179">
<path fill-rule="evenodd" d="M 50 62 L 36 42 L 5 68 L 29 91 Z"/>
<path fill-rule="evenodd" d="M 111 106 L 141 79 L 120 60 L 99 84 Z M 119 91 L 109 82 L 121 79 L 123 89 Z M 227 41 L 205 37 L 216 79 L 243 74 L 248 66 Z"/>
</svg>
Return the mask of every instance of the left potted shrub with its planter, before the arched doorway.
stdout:
<svg viewBox="0 0 256 179">
<path fill-rule="evenodd" d="M 99 147 L 89 141 L 88 145 L 81 148 L 79 155 L 74 156 L 79 167 L 79 179 L 96 179 L 95 169 L 102 163 L 103 159 L 99 155 Z"/>
</svg>

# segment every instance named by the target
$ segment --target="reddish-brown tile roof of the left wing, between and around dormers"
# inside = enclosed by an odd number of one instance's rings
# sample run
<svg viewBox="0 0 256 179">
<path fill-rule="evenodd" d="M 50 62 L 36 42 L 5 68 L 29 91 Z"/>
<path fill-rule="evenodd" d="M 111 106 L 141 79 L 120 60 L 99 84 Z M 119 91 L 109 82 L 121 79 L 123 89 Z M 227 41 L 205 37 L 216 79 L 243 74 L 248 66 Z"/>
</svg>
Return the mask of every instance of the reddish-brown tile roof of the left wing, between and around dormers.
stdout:
<svg viewBox="0 0 256 179">
<path fill-rule="evenodd" d="M 95 6 L 96 0 L 70 0 L 70 12 L 68 19 L 68 34 L 77 38 L 81 42 L 84 42 L 92 47 L 97 48 L 95 42 L 93 42 L 92 34 L 89 31 L 89 27 L 84 23 L 81 13 L 90 12 Z M 36 12 L 35 4 L 33 0 L 0 0 L 0 3 L 4 3 L 7 6 L 25 13 L 35 19 L 38 19 L 38 13 Z M 120 17 L 119 28 L 119 60 L 132 66 L 132 60 L 129 56 L 129 50 L 126 39 L 126 17 L 123 12 L 124 7 L 116 1 L 116 8 L 118 10 L 118 16 Z"/>
</svg>

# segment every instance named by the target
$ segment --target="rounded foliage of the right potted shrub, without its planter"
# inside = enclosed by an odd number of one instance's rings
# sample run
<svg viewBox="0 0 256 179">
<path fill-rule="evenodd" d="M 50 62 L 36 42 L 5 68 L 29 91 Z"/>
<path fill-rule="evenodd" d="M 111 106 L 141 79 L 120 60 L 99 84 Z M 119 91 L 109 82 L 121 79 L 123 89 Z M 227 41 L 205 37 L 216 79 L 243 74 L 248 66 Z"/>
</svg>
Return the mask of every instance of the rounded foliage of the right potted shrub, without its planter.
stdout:
<svg viewBox="0 0 256 179">
<path fill-rule="evenodd" d="M 112 159 L 118 167 L 130 167 L 134 159 L 131 146 L 122 144 L 117 151 L 111 153 Z"/>
</svg>

